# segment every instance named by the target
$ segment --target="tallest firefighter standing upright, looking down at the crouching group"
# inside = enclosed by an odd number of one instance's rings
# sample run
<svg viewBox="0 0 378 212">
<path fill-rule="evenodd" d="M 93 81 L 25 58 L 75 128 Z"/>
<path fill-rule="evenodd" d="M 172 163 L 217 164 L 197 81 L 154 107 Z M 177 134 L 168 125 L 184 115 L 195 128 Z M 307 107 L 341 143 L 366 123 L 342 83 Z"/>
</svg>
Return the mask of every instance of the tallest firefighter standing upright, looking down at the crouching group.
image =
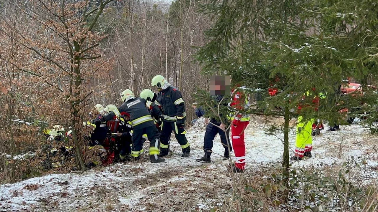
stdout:
<svg viewBox="0 0 378 212">
<path fill-rule="evenodd" d="M 181 145 L 183 154 L 181 157 L 189 157 L 190 146 L 185 136 L 185 104 L 181 92 L 171 86 L 162 75 L 156 75 L 152 78 L 151 86 L 156 86 L 159 93 L 157 97 L 158 103 L 163 109 L 163 123 L 161 125 L 161 144 L 160 155 L 168 155 L 169 152 L 169 137 L 172 131 L 175 132 L 175 137 Z"/>
</svg>

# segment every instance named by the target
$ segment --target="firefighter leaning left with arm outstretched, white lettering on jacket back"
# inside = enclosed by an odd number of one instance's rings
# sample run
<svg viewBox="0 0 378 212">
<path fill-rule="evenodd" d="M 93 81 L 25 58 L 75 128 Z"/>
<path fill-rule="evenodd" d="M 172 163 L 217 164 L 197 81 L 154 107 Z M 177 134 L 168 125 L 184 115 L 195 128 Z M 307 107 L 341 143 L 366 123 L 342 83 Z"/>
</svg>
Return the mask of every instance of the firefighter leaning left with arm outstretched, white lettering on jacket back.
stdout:
<svg viewBox="0 0 378 212">
<path fill-rule="evenodd" d="M 131 156 L 135 160 L 140 159 L 140 154 L 143 151 L 143 134 L 147 134 L 150 140 L 150 161 L 152 163 L 163 162 L 164 159 L 159 157 L 159 131 L 154 125 L 153 119 L 147 110 L 147 104 L 153 108 L 156 113 L 160 112 L 160 109 L 150 101 L 143 98 L 136 98 L 132 91 L 126 89 L 121 94 L 121 99 L 124 103 L 118 107 L 117 110 L 102 117 L 98 122 L 111 120 L 114 115 L 121 116 L 121 113 L 125 113 L 130 117 L 133 128 L 133 146 L 131 148 Z"/>
</svg>

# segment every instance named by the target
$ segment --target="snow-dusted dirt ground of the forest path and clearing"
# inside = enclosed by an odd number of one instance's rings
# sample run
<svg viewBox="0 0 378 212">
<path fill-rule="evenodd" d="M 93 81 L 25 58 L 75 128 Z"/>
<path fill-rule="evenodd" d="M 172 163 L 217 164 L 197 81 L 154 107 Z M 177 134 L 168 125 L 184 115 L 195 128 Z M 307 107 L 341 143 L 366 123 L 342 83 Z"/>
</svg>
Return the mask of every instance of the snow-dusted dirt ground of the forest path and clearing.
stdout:
<svg viewBox="0 0 378 212">
<path fill-rule="evenodd" d="M 246 174 L 260 165 L 281 162 L 283 134 L 267 135 L 268 127 L 262 117 L 255 117 L 246 129 Z M 204 129 L 204 123 L 199 122 L 188 130 L 189 158 L 180 157 L 181 148 L 172 136 L 172 152 L 165 163 L 152 164 L 144 156 L 139 162 L 4 184 L 0 187 L 0 211 L 202 211 L 222 205 L 230 194 L 232 176 L 227 171 L 228 161 L 220 156 L 224 149 L 219 137 L 214 141 L 212 163 L 195 161 L 203 155 Z M 376 147 L 367 133 L 358 125 L 322 131 L 313 140 L 313 157 L 293 167 L 343 163 L 351 156 L 366 158 L 369 166 L 377 166 Z M 294 131 L 289 138 L 293 154 Z"/>
</svg>

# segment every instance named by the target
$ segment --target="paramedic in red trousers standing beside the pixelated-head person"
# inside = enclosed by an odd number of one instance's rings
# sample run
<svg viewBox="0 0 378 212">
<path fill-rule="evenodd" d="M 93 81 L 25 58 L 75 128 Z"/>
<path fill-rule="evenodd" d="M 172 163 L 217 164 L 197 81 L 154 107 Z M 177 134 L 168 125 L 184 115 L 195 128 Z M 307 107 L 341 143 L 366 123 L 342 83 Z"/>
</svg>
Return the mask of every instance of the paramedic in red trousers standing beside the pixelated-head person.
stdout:
<svg viewBox="0 0 378 212">
<path fill-rule="evenodd" d="M 242 89 L 235 88 L 232 91 L 232 101 L 229 104 L 232 109 L 241 111 L 249 109 L 248 97 L 243 93 Z M 249 114 L 237 114 L 231 116 L 231 139 L 232 148 L 235 152 L 235 166 L 232 167 L 234 172 L 244 172 L 245 168 L 245 143 L 244 143 L 244 131 L 249 124 Z"/>
</svg>

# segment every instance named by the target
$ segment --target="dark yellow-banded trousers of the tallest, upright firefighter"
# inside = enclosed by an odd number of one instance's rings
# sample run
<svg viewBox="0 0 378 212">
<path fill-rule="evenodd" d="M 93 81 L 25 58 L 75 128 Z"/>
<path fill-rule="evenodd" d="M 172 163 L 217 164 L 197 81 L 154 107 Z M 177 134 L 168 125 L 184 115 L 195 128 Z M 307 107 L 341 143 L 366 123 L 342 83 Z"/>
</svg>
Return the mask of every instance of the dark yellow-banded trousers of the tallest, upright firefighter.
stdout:
<svg viewBox="0 0 378 212">
<path fill-rule="evenodd" d="M 169 139 L 170 139 L 170 134 L 174 131 L 176 140 L 181 146 L 181 149 L 183 152 L 186 152 L 186 149 L 189 147 L 189 142 L 186 140 L 185 136 L 185 129 L 184 125 L 182 126 L 177 126 L 176 122 L 168 122 L 168 121 L 163 121 L 161 123 L 161 140 L 160 140 L 160 147 L 163 149 L 168 149 L 169 148 Z"/>
</svg>

